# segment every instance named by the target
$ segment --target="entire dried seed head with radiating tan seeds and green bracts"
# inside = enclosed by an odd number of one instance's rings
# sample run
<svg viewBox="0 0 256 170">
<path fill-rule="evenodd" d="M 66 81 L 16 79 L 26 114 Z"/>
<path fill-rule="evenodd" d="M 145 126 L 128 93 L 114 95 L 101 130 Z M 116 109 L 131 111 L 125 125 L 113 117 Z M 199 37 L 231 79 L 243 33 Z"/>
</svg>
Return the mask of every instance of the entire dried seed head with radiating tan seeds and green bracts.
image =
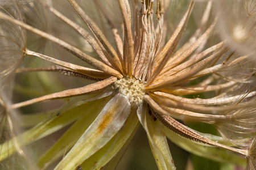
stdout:
<svg viewBox="0 0 256 170">
<path fill-rule="evenodd" d="M 24 146 L 70 125 L 36 158 L 37 167 L 47 169 L 62 158 L 54 169 L 114 169 L 141 124 L 159 169 L 176 169 L 167 138 L 221 162 L 245 166 L 244 156 L 247 169 L 254 169 L 255 3 L 239 3 L 248 17 L 237 15 L 230 33 L 226 11 L 216 10 L 222 1 L 0 1 L 0 48 L 6 52 L 0 54 L 6 66 L 1 83 L 25 54 L 28 67 L 16 74 L 47 71 L 44 80 L 51 80 L 50 94 L 8 105 L 1 98 L 1 117 L 35 103 L 65 101 L 60 108 L 21 114 L 16 126 L 32 128 L 2 141 L 2 164 L 15 152 L 26 158 Z M 56 92 L 56 80 L 49 78 L 54 73 L 94 82 L 68 88 L 74 79 L 62 78 L 68 89 Z M 189 122 L 214 125 L 221 136 L 188 128 Z"/>
</svg>

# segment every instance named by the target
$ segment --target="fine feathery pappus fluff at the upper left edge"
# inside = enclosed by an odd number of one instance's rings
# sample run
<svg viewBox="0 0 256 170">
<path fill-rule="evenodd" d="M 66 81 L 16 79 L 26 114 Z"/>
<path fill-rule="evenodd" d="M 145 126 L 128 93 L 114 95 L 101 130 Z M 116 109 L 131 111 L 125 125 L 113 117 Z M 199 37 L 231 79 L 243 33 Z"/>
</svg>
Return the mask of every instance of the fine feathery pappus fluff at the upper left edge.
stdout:
<svg viewBox="0 0 256 170">
<path fill-rule="evenodd" d="M 12 4 L 12 7 L 1 7 L 0 11 L 14 19 L 23 21 L 21 11 L 15 3 Z M 0 20 L 0 23 L 0 86 L 2 87 L 18 69 L 25 56 L 26 30 L 3 19 Z"/>
</svg>

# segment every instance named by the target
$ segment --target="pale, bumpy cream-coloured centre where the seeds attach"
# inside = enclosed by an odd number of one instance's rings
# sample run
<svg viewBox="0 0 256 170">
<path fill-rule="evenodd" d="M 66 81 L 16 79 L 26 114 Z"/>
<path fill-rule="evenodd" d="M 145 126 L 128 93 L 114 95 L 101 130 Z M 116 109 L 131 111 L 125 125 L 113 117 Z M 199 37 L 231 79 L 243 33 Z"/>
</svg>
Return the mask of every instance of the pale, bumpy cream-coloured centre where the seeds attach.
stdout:
<svg viewBox="0 0 256 170">
<path fill-rule="evenodd" d="M 114 83 L 118 92 L 126 96 L 130 102 L 142 103 L 143 96 L 146 94 L 144 83 L 135 78 L 124 77 Z"/>
</svg>

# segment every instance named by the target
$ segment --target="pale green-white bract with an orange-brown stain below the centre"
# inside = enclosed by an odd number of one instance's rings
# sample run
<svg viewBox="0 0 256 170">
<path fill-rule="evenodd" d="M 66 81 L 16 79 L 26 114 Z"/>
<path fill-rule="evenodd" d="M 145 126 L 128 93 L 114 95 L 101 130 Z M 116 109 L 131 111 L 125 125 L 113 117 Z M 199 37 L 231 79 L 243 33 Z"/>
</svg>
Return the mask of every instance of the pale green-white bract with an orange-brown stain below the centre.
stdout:
<svg viewBox="0 0 256 170">
<path fill-rule="evenodd" d="M 76 168 L 104 147 L 122 128 L 130 111 L 127 98 L 121 94 L 115 95 L 55 169 Z"/>
</svg>

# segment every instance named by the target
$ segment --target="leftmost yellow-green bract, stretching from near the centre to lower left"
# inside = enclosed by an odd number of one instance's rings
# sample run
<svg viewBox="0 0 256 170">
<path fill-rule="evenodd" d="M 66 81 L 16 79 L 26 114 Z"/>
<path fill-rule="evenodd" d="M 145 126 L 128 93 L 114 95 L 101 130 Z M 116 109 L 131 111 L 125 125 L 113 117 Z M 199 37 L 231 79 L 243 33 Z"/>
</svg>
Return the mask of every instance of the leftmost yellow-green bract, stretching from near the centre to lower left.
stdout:
<svg viewBox="0 0 256 170">
<path fill-rule="evenodd" d="M 76 121 L 86 111 L 86 108 L 92 105 L 92 100 L 105 97 L 106 94 L 101 94 L 99 92 L 97 93 L 97 95 L 93 94 L 75 97 L 75 99 L 69 100 L 65 105 L 63 105 L 63 107 L 61 107 L 60 110 L 53 113 L 51 117 L 47 118 L 47 120 L 41 122 L 34 128 L 25 131 L 18 137 L 15 137 L 13 139 L 10 139 L 10 141 L 3 143 L 0 146 L 4 148 L 4 150 L 1 151 L 0 160 L 5 159 L 7 156 L 13 154 L 13 152 L 16 151 L 14 146 L 10 146 L 9 143 L 12 143 L 13 141 L 18 141 L 18 144 L 20 146 L 24 146 L 27 145 L 28 143 L 37 141 L 38 139 L 41 139 L 49 134 L 52 134 L 53 132 Z"/>
</svg>

